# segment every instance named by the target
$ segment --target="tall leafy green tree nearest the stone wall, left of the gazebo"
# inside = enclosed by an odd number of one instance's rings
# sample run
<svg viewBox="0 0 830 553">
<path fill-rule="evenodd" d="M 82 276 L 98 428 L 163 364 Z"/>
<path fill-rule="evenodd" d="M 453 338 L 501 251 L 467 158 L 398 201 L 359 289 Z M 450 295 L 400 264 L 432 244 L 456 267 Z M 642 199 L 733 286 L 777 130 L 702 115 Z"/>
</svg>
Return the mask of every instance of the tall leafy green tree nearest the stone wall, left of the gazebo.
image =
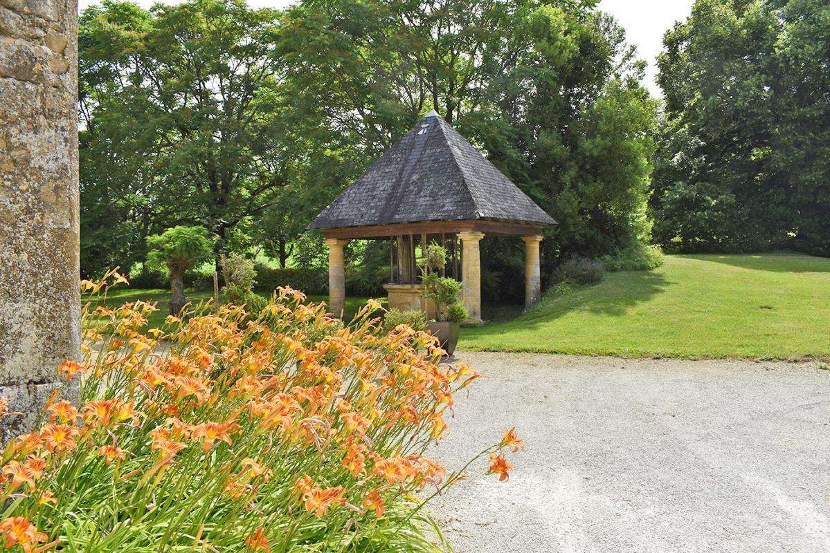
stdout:
<svg viewBox="0 0 830 553">
<path fill-rule="evenodd" d="M 85 260 L 109 263 L 88 251 L 107 248 L 140 259 L 144 236 L 178 224 L 217 235 L 217 257 L 234 240 L 248 245 L 286 184 L 278 17 L 243 0 L 85 10 Z M 127 230 L 110 238 L 111 228 Z"/>
</svg>

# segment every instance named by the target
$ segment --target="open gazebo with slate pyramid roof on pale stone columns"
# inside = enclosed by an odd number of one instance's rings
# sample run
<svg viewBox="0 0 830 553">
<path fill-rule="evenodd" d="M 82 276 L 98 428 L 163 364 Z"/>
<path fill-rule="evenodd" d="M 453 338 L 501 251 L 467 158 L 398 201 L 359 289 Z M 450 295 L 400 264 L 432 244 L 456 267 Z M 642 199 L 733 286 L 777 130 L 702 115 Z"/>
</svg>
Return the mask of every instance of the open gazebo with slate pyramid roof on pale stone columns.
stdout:
<svg viewBox="0 0 830 553">
<path fill-rule="evenodd" d="M 481 323 L 479 241 L 497 235 L 525 240 L 525 305 L 530 306 L 540 296 L 542 229 L 553 223 L 432 111 L 321 211 L 309 228 L 323 230 L 329 246 L 332 313 L 339 315 L 344 308 L 343 247 L 350 239 L 389 239 L 393 280 L 385 287 L 389 306 L 430 311 L 420 296 L 416 257 L 423 245 L 437 242 L 449 252 L 447 273 L 458 278 L 461 264 L 467 323 Z"/>
</svg>

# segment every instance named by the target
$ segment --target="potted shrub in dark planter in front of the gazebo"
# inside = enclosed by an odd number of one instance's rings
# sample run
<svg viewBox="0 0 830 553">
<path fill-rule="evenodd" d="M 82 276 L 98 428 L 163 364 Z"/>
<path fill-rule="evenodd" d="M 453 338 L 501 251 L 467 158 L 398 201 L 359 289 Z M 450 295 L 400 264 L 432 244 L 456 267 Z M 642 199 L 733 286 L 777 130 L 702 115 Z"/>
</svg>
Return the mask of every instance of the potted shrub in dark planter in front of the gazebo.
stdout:
<svg viewBox="0 0 830 553">
<path fill-rule="evenodd" d="M 438 274 L 447 264 L 447 250 L 440 245 L 428 245 L 421 264 L 422 296 L 432 300 L 436 308 L 435 320 L 427 323 L 427 329 L 438 338 L 447 355 L 452 355 L 461 332 L 461 321 L 467 318 L 466 309 L 461 305 L 461 283 Z"/>
</svg>

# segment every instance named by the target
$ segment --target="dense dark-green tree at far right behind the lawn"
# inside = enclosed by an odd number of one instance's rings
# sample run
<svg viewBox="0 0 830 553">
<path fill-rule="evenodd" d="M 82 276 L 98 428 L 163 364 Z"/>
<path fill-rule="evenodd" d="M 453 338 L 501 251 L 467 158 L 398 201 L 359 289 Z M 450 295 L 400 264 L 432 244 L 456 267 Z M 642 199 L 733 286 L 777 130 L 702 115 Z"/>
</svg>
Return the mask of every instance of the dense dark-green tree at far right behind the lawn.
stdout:
<svg viewBox="0 0 830 553">
<path fill-rule="evenodd" d="M 762 250 L 796 235 L 830 253 L 828 36 L 830 7 L 809 0 L 698 0 L 666 33 L 662 245 Z"/>
</svg>

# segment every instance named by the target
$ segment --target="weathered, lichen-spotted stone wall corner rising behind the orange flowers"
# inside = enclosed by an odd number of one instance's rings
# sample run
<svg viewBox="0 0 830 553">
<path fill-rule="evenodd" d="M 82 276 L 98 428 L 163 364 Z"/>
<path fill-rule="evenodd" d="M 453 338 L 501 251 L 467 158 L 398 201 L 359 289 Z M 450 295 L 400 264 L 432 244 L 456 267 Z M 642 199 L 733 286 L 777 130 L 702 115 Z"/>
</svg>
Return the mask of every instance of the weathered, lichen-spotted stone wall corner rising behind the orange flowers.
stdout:
<svg viewBox="0 0 830 553">
<path fill-rule="evenodd" d="M 80 355 L 77 0 L 0 0 L 0 396 L 32 424 Z"/>
</svg>

